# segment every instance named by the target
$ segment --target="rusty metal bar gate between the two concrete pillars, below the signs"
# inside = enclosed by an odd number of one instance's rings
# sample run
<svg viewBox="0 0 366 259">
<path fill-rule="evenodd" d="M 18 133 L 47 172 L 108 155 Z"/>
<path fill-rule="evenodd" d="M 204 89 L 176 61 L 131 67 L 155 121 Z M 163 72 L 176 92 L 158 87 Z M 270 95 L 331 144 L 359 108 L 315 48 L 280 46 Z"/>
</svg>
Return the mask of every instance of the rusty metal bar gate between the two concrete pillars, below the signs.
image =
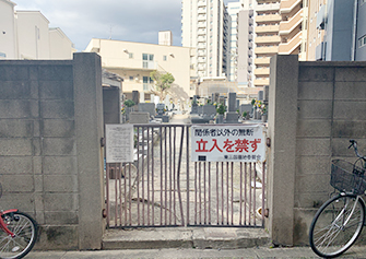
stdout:
<svg viewBox="0 0 366 259">
<path fill-rule="evenodd" d="M 190 162 L 189 134 L 134 126 L 134 162 L 106 165 L 108 227 L 263 226 L 265 164 Z"/>
</svg>

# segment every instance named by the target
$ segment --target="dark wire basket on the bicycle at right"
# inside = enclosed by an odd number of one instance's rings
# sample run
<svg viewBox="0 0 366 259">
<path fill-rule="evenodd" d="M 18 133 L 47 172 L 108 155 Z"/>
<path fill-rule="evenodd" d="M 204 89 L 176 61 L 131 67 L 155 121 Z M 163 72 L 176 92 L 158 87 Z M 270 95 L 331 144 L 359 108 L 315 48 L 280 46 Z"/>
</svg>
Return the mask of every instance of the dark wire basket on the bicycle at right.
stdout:
<svg viewBox="0 0 366 259">
<path fill-rule="evenodd" d="M 364 170 L 343 160 L 332 161 L 330 185 L 339 191 L 362 195 L 366 190 L 366 176 Z"/>
</svg>

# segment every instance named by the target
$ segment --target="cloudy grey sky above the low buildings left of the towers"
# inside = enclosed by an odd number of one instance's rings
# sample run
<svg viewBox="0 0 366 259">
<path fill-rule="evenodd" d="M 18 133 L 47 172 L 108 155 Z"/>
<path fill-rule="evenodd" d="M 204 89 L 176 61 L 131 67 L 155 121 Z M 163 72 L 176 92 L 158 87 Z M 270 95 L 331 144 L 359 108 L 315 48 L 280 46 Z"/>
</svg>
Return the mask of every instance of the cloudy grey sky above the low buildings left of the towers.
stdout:
<svg viewBox="0 0 366 259">
<path fill-rule="evenodd" d="M 15 10 L 40 11 L 83 50 L 95 38 L 157 44 L 158 31 L 173 32 L 181 46 L 181 0 L 12 0 Z M 224 2 L 236 0 L 225 0 Z"/>
</svg>

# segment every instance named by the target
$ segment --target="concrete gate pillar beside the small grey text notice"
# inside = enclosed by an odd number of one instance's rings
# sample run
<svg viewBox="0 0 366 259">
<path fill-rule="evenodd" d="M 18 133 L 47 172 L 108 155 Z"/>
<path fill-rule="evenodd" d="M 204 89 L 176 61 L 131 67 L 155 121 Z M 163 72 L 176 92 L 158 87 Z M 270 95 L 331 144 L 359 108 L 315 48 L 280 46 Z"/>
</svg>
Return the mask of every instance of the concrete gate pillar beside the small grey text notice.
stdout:
<svg viewBox="0 0 366 259">
<path fill-rule="evenodd" d="M 74 118 L 78 146 L 79 249 L 101 249 L 105 222 L 103 96 L 101 57 L 73 55 Z"/>
</svg>

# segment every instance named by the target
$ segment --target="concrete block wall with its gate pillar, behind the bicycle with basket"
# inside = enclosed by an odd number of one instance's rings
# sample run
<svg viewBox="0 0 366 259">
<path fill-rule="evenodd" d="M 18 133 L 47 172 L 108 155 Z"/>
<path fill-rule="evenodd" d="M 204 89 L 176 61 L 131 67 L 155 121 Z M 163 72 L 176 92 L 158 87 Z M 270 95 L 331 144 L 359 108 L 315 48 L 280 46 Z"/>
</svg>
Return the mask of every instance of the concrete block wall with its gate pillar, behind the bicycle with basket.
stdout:
<svg viewBox="0 0 366 259">
<path fill-rule="evenodd" d="M 273 242 L 308 245 L 308 228 L 333 191 L 331 161 L 366 154 L 366 62 L 271 59 L 268 228 Z"/>
</svg>

